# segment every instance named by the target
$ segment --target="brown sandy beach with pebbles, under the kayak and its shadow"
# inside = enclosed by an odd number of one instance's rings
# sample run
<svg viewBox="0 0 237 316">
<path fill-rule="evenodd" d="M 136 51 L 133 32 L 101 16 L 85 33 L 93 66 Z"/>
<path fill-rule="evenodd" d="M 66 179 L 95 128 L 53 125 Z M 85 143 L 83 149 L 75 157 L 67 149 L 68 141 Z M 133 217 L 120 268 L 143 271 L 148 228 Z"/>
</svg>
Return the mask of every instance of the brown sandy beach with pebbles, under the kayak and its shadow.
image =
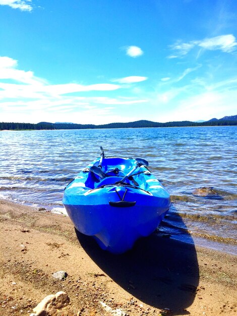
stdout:
<svg viewBox="0 0 237 316">
<path fill-rule="evenodd" d="M 30 315 L 58 291 L 70 298 L 60 316 L 236 314 L 236 256 L 155 234 L 111 255 L 68 217 L 3 199 L 0 228 L 1 316 Z"/>
</svg>

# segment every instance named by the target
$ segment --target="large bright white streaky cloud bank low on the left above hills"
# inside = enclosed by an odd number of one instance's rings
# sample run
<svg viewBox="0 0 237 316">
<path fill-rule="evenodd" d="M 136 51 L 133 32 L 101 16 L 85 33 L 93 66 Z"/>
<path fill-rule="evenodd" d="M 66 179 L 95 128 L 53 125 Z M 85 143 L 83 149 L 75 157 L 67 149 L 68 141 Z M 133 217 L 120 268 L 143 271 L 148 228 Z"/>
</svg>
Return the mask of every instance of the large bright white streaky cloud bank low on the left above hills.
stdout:
<svg viewBox="0 0 237 316">
<path fill-rule="evenodd" d="M 127 78 L 127 79 L 126 79 Z M 130 79 L 128 79 L 130 78 Z M 131 76 L 121 78 L 123 83 L 139 82 L 146 77 Z M 118 79 L 120 80 L 120 79 Z M 49 84 L 36 77 L 32 71 L 18 69 L 18 62 L 9 57 L 0 57 L 0 114 L 4 121 L 25 122 L 28 118 L 35 123 L 45 120 L 72 121 L 97 124 L 113 120 L 126 121 L 128 118 L 114 115 L 114 109 L 133 104 L 145 103 L 147 99 L 137 96 L 109 97 L 103 91 L 123 89 L 125 85 L 114 83 Z M 92 91 L 93 96 L 88 92 Z M 99 91 L 99 96 L 96 96 Z M 87 92 L 86 94 L 84 92 Z M 64 115 L 66 117 L 64 117 Z M 66 119 L 67 118 L 67 119 Z M 107 120 L 107 121 L 106 121 Z"/>
</svg>

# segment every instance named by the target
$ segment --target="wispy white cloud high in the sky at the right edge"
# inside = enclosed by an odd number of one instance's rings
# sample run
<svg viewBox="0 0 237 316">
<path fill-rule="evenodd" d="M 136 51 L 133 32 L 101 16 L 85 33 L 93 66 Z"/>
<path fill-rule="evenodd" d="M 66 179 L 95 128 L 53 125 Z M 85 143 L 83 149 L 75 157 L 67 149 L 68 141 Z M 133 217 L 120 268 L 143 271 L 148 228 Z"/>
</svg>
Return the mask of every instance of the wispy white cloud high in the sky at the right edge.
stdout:
<svg viewBox="0 0 237 316">
<path fill-rule="evenodd" d="M 193 40 L 188 43 L 176 42 L 169 47 L 175 51 L 175 54 L 168 56 L 169 59 L 182 58 L 187 55 L 194 47 L 202 47 L 207 50 L 221 50 L 223 52 L 232 52 L 236 49 L 236 38 L 232 34 L 220 35 L 204 38 L 202 40 Z"/>
</svg>

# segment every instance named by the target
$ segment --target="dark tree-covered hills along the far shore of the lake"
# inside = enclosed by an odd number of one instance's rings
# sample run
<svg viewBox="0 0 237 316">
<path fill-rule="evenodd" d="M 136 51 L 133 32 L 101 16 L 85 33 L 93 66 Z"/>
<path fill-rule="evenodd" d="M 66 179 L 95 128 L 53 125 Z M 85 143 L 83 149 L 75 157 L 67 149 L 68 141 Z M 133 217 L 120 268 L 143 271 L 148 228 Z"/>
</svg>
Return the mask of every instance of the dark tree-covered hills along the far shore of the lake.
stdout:
<svg viewBox="0 0 237 316">
<path fill-rule="evenodd" d="M 152 122 L 140 120 L 128 123 L 109 123 L 102 125 L 74 124 L 74 123 L 4 123 L 0 122 L 0 130 L 59 130 L 59 129 L 100 129 L 100 128 L 144 128 L 144 127 L 189 127 L 189 126 L 226 126 L 237 125 L 237 115 L 225 116 L 222 119 L 211 119 L 204 122 L 175 121 L 175 122 Z"/>
</svg>

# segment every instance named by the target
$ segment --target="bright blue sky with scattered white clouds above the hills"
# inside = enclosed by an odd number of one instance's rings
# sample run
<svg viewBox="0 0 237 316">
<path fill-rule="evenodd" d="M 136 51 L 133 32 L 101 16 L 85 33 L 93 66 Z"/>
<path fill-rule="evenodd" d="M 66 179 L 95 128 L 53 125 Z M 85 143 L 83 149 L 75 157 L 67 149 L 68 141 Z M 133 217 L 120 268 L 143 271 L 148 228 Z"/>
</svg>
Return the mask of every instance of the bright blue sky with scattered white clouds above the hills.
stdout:
<svg viewBox="0 0 237 316">
<path fill-rule="evenodd" d="M 0 0 L 0 121 L 237 114 L 237 2 Z"/>
</svg>

